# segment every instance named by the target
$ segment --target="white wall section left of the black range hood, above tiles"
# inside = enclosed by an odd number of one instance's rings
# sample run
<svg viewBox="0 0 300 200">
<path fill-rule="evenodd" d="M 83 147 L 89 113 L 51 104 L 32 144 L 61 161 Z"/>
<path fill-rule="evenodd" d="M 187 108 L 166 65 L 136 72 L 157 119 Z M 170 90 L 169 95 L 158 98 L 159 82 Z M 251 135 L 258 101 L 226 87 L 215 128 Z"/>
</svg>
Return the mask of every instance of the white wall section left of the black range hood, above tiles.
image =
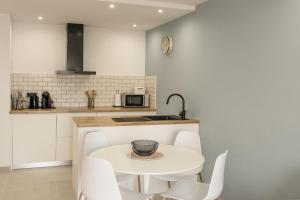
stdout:
<svg viewBox="0 0 300 200">
<path fill-rule="evenodd" d="M 13 72 L 54 73 L 66 66 L 66 28 L 13 23 Z"/>
</svg>

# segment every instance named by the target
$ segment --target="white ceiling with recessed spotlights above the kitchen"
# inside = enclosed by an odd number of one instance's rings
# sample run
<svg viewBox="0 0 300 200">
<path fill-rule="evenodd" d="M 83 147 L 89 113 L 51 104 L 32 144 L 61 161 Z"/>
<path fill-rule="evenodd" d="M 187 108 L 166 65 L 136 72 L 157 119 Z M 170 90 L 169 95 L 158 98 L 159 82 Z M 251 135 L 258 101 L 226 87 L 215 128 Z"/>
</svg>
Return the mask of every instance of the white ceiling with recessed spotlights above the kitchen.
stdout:
<svg viewBox="0 0 300 200">
<path fill-rule="evenodd" d="M 207 0 L 0 0 L 0 12 L 16 21 L 83 23 L 89 26 L 149 30 L 193 12 Z M 116 7 L 109 8 L 114 2 Z M 158 9 L 164 13 L 159 14 Z"/>
</svg>

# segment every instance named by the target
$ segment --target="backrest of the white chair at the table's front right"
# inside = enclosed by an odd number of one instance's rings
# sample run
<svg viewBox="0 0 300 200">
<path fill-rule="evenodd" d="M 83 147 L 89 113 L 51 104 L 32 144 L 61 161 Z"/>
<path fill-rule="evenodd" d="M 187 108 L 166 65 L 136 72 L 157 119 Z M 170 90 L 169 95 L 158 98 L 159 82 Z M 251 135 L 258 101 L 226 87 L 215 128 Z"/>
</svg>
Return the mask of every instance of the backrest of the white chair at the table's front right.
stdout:
<svg viewBox="0 0 300 200">
<path fill-rule="evenodd" d="M 225 162 L 228 150 L 218 156 L 212 173 L 208 193 L 204 200 L 215 200 L 220 197 L 224 185 Z"/>
</svg>

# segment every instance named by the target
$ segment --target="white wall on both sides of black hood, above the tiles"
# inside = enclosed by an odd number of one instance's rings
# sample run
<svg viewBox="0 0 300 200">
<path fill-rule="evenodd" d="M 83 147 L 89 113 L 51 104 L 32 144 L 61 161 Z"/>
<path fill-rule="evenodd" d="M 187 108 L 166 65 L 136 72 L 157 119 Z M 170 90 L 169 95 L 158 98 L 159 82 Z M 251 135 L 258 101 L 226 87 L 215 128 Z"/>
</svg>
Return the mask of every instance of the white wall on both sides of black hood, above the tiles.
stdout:
<svg viewBox="0 0 300 200">
<path fill-rule="evenodd" d="M 64 70 L 66 39 L 66 25 L 14 22 L 13 72 Z M 84 70 L 144 75 L 145 32 L 85 27 Z"/>
</svg>

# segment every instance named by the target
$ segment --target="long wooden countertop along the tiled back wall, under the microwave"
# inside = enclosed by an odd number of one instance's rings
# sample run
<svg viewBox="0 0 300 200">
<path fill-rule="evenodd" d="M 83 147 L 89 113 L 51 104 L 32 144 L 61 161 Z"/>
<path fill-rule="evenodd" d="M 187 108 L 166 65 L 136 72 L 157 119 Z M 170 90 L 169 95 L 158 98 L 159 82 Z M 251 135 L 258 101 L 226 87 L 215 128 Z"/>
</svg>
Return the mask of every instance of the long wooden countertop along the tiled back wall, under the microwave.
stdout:
<svg viewBox="0 0 300 200">
<path fill-rule="evenodd" d="M 155 112 L 154 108 L 121 108 L 112 106 L 88 107 L 57 107 L 54 109 L 23 109 L 11 110 L 10 114 L 43 114 L 43 113 L 80 113 L 80 112 Z"/>
</svg>

